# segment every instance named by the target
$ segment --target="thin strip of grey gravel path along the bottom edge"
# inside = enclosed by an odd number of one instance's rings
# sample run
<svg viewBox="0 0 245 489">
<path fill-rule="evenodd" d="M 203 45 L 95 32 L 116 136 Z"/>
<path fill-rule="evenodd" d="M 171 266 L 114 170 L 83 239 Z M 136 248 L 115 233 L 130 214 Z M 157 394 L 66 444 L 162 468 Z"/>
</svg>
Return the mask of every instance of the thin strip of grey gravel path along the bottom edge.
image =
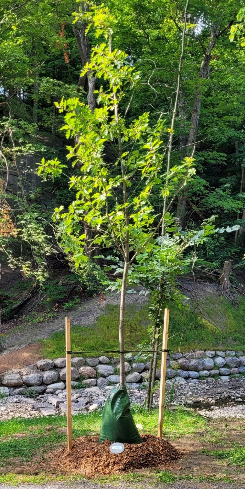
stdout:
<svg viewBox="0 0 245 489">
<path fill-rule="evenodd" d="M 33 484 L 26 485 L 28 489 L 241 489 L 242 486 L 235 484 L 226 484 L 223 482 L 176 482 L 175 484 L 151 484 L 150 486 L 145 483 L 129 484 L 128 482 L 120 481 L 118 484 L 99 484 L 95 482 L 81 481 L 75 484 L 67 484 L 67 482 L 59 482 L 54 484 L 44 484 L 43 486 L 35 486 Z M 0 484 L 0 489 L 23 489 L 23 485 L 20 486 L 5 486 Z"/>
</svg>

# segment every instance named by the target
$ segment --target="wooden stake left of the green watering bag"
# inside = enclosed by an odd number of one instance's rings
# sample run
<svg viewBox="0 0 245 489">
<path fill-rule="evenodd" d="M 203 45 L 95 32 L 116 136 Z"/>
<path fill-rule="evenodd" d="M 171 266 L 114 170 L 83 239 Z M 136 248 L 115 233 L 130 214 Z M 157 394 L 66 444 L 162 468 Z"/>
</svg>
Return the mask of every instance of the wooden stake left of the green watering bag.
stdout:
<svg viewBox="0 0 245 489">
<path fill-rule="evenodd" d="M 66 358 L 66 419 L 67 419 L 67 449 L 72 449 L 72 423 L 71 423 L 71 356 L 66 353 L 71 350 L 71 323 L 65 318 L 65 358 Z"/>
</svg>

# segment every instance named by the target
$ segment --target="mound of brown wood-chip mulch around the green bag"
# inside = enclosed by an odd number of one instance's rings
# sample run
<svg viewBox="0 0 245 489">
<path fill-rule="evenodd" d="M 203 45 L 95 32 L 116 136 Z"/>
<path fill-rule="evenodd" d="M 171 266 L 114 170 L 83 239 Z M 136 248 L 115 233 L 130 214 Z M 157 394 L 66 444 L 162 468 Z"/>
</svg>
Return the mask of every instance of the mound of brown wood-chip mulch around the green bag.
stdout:
<svg viewBox="0 0 245 489">
<path fill-rule="evenodd" d="M 141 435 L 141 444 L 125 444 L 125 450 L 113 454 L 111 442 L 98 445 L 99 437 L 82 436 L 73 442 L 70 452 L 66 446 L 51 455 L 50 465 L 62 472 L 74 472 L 92 477 L 96 473 L 114 474 L 131 469 L 159 467 L 182 458 L 182 454 L 166 440 L 154 435 Z M 49 452 L 50 456 L 50 452 Z"/>
</svg>

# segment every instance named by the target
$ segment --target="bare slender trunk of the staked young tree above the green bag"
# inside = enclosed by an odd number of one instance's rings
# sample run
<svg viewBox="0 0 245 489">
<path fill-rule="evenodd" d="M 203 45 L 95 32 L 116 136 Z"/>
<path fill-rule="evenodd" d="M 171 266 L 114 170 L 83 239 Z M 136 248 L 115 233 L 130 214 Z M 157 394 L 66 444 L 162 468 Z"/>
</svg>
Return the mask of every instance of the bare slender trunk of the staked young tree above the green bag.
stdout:
<svg viewBox="0 0 245 489">
<path fill-rule="evenodd" d="M 126 286 L 127 286 L 127 274 L 129 269 L 129 263 L 124 262 L 123 275 L 122 275 L 122 290 L 121 290 L 121 302 L 120 302 L 120 320 L 119 320 L 119 350 L 124 351 L 124 323 L 125 323 L 125 302 L 126 302 Z M 120 385 L 125 385 L 125 355 L 120 353 Z"/>
</svg>

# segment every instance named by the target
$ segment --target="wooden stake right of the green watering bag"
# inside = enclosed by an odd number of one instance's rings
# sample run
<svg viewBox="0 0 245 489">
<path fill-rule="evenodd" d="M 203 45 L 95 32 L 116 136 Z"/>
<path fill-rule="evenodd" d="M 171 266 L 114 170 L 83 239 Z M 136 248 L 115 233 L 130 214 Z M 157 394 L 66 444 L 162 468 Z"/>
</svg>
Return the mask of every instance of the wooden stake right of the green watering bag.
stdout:
<svg viewBox="0 0 245 489">
<path fill-rule="evenodd" d="M 164 322 L 163 322 L 163 343 L 162 343 L 163 350 L 167 350 L 168 322 L 169 322 L 169 309 L 165 309 Z M 158 416 L 158 436 L 160 436 L 160 438 L 163 437 L 163 409 L 164 409 L 164 395 L 165 395 L 166 361 L 167 361 L 167 352 L 162 352 L 159 416 Z"/>
</svg>

